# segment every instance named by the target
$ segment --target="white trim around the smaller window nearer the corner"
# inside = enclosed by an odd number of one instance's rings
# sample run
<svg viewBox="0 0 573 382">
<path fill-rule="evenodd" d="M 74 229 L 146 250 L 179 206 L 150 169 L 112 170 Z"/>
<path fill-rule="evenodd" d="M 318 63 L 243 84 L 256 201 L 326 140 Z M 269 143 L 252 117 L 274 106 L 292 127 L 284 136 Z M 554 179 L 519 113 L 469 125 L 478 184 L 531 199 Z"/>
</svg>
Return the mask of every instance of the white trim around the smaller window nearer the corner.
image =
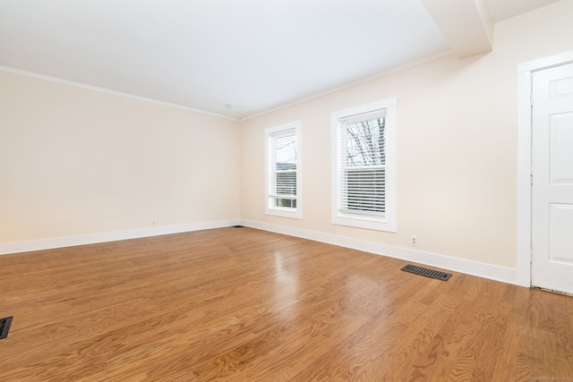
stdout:
<svg viewBox="0 0 573 382">
<path fill-rule="evenodd" d="M 296 144 L 296 207 L 275 207 L 272 203 L 274 195 L 270 193 L 270 149 L 273 136 L 281 133 L 295 133 Z M 302 201 L 302 139 L 301 139 L 301 122 L 295 121 L 284 123 L 278 126 L 265 129 L 265 214 L 271 216 L 290 217 L 295 219 L 303 218 L 303 201 Z"/>
</svg>

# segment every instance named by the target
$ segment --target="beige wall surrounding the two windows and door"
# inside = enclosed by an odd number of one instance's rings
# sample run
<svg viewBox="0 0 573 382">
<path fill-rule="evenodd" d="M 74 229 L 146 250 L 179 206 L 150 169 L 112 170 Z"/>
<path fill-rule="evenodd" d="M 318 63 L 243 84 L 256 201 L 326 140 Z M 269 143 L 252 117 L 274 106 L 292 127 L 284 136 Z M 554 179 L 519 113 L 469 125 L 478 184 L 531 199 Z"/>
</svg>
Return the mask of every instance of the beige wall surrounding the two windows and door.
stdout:
<svg viewBox="0 0 573 382">
<path fill-rule="evenodd" d="M 573 49 L 573 2 L 495 26 L 493 52 L 449 55 L 241 123 L 241 216 L 517 266 L 517 64 Z M 382 48 L 382 47 L 381 47 Z M 302 57 L 304 59 L 304 57 Z M 330 114 L 398 98 L 398 233 L 330 224 Z M 301 120 L 302 220 L 264 214 L 264 129 Z"/>
</svg>

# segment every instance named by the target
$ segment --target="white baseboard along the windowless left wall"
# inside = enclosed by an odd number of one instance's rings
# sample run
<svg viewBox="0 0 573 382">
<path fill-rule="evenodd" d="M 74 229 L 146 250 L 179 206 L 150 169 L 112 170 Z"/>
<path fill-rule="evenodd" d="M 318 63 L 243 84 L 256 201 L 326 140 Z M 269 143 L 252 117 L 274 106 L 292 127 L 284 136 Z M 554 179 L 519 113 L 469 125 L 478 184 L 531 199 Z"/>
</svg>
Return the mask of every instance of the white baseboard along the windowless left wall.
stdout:
<svg viewBox="0 0 573 382">
<path fill-rule="evenodd" d="M 191 223 L 186 225 L 155 226 L 150 228 L 140 228 L 120 232 L 56 237 L 29 242 L 4 242 L 0 243 L 0 255 L 29 252 L 31 250 L 51 250 L 55 248 L 73 247 L 76 245 L 95 244 L 98 242 L 116 242 L 119 240 L 138 239 L 142 237 L 158 236 L 170 233 L 200 231 L 204 229 L 221 228 L 238 224 L 238 220 L 219 220 L 213 222 Z"/>
</svg>

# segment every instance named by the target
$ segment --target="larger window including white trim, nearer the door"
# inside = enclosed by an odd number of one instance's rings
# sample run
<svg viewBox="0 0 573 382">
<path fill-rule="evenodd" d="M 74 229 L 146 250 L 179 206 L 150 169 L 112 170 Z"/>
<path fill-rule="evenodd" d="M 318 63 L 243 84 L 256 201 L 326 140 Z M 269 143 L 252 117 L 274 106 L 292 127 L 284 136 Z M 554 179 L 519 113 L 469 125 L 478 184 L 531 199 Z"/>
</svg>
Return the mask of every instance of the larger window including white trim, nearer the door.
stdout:
<svg viewBox="0 0 573 382">
<path fill-rule="evenodd" d="M 332 114 L 332 223 L 396 232 L 396 98 Z"/>
</svg>

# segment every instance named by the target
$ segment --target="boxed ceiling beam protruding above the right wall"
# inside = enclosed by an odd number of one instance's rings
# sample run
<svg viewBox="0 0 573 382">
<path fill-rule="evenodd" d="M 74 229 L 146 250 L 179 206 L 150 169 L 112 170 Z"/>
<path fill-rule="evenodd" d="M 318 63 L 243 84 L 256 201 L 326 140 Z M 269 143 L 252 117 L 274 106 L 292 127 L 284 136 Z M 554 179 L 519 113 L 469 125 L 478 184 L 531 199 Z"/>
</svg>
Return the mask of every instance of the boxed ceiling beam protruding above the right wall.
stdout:
<svg viewBox="0 0 573 382">
<path fill-rule="evenodd" d="M 492 51 L 493 21 L 485 0 L 421 0 L 459 58 Z"/>
</svg>

